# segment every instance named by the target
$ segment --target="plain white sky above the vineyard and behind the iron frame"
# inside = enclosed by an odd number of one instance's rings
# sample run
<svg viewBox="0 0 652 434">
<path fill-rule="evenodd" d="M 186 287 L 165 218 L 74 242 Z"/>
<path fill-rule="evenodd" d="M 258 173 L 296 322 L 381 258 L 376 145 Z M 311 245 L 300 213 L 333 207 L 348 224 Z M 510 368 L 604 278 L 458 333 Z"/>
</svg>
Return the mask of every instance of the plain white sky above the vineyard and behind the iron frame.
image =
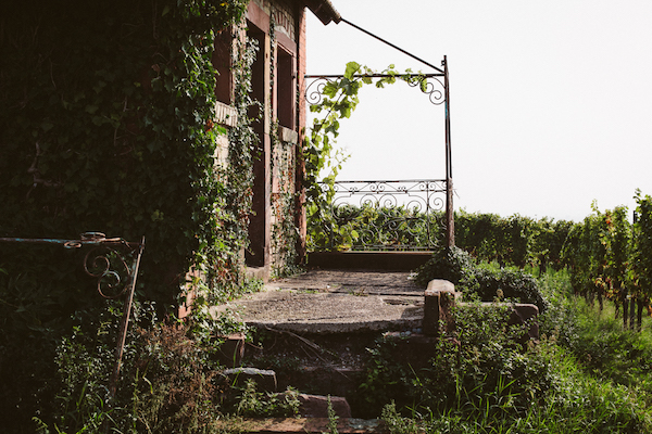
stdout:
<svg viewBox="0 0 652 434">
<path fill-rule="evenodd" d="M 331 0 L 342 17 L 439 66 L 448 56 L 455 208 L 581 220 L 652 194 L 651 0 Z M 309 13 L 308 74 L 349 61 L 430 72 Z M 444 178 L 443 107 L 367 86 L 338 145 L 340 180 Z"/>
</svg>

